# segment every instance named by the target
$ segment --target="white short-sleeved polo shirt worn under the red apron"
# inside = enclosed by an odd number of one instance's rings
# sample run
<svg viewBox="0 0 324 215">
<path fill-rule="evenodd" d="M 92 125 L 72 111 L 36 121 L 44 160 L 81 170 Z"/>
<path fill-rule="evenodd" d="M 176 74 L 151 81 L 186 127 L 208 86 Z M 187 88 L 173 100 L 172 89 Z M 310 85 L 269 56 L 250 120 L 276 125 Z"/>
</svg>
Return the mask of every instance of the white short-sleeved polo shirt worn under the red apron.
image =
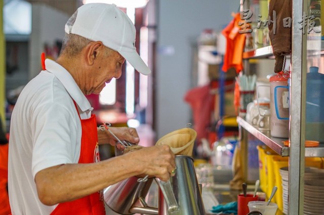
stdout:
<svg viewBox="0 0 324 215">
<path fill-rule="evenodd" d="M 57 205 L 39 201 L 34 177 L 60 164 L 78 163 L 82 119 L 91 105 L 72 76 L 47 59 L 46 69 L 22 90 L 11 116 L 8 186 L 13 214 L 50 214 Z"/>
</svg>

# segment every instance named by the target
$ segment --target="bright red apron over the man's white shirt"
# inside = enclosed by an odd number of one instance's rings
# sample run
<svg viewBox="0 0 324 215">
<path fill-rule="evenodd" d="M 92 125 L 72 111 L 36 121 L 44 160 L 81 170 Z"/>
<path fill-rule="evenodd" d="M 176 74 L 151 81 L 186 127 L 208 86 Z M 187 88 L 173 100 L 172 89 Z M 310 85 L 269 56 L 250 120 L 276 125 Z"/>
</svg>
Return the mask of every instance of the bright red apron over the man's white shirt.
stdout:
<svg viewBox="0 0 324 215">
<path fill-rule="evenodd" d="M 76 107 L 75 102 L 74 104 Z M 79 114 L 78 110 L 77 113 Z M 78 163 L 85 164 L 99 162 L 100 155 L 98 150 L 96 116 L 93 114 L 91 115 L 91 118 L 81 120 L 81 126 L 81 151 Z M 106 213 L 101 194 L 96 192 L 74 201 L 59 203 L 51 214 L 105 215 Z"/>
</svg>

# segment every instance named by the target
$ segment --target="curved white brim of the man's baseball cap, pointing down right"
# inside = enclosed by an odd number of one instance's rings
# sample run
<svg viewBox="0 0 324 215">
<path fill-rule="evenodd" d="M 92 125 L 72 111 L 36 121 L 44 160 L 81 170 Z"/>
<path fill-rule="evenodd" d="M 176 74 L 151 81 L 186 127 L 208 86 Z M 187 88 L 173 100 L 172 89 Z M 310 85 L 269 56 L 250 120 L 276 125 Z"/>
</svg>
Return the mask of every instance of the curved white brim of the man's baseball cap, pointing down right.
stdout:
<svg viewBox="0 0 324 215">
<path fill-rule="evenodd" d="M 146 66 L 144 61 L 138 55 L 136 51 L 118 51 L 121 56 L 125 58 L 139 73 L 143 75 L 149 75 L 151 70 Z"/>
</svg>

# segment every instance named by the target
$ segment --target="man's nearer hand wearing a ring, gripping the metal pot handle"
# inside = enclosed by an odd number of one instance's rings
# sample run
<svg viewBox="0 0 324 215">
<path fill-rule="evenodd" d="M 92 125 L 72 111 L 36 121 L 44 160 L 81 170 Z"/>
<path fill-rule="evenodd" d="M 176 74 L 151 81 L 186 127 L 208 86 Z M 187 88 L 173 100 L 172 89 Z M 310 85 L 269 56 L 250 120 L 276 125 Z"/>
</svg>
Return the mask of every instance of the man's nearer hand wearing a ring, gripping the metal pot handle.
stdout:
<svg viewBox="0 0 324 215">
<path fill-rule="evenodd" d="M 135 156 L 134 164 L 141 168 L 141 176 L 154 176 L 162 181 L 168 181 L 173 176 L 171 172 L 176 167 L 175 155 L 168 145 L 143 147 L 127 154 Z"/>
</svg>

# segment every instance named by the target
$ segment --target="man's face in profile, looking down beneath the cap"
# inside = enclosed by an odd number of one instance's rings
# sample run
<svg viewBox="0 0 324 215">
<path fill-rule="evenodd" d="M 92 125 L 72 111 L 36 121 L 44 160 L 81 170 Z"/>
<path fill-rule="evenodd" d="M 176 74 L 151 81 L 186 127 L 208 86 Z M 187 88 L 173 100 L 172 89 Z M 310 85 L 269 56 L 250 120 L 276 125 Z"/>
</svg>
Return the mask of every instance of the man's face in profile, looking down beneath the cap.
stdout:
<svg viewBox="0 0 324 215">
<path fill-rule="evenodd" d="M 101 52 L 95 61 L 94 69 L 89 75 L 90 80 L 86 85 L 87 95 L 99 94 L 112 78 L 119 78 L 125 59 L 117 51 L 110 51 L 108 53 Z"/>
</svg>

